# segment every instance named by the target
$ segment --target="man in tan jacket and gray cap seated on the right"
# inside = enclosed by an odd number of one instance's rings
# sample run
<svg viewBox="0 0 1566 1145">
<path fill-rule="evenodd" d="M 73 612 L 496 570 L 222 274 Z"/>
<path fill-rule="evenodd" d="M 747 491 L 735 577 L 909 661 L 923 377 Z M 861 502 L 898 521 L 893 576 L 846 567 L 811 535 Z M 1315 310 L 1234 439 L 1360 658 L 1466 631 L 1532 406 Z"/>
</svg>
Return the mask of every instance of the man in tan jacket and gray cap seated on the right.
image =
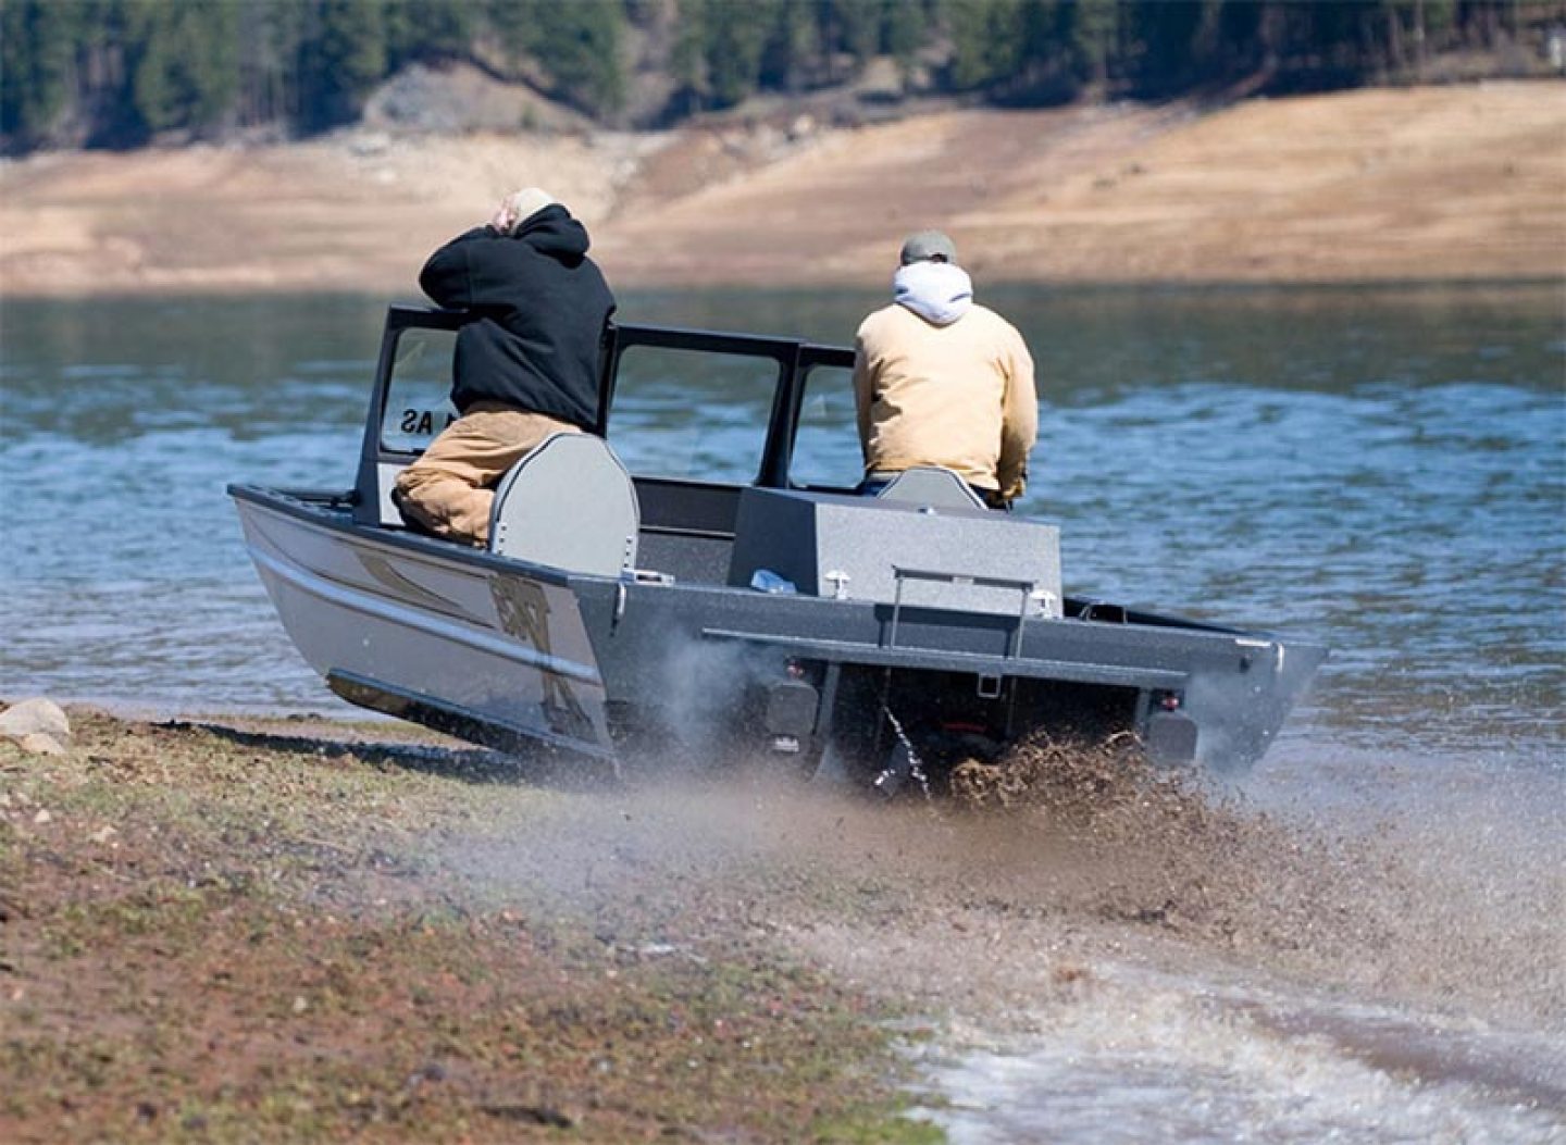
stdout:
<svg viewBox="0 0 1566 1145">
<path fill-rule="evenodd" d="M 860 324 L 853 343 L 860 492 L 880 492 L 913 465 L 943 465 L 991 507 L 1010 506 L 1027 486 L 1038 435 L 1023 335 L 972 301 L 957 247 L 938 230 L 904 243 L 893 298 Z"/>
</svg>

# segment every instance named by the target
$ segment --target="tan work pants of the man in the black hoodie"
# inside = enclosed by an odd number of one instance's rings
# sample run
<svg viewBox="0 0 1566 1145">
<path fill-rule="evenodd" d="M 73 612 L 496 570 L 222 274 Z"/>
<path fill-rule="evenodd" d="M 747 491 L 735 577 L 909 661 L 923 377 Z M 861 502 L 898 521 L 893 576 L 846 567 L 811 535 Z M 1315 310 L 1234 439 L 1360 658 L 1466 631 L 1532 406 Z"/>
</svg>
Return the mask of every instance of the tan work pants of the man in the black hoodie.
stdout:
<svg viewBox="0 0 1566 1145">
<path fill-rule="evenodd" d="M 576 426 L 493 401 L 476 401 L 398 475 L 392 500 L 412 525 L 451 540 L 489 544 L 495 486 L 550 434 Z"/>
</svg>

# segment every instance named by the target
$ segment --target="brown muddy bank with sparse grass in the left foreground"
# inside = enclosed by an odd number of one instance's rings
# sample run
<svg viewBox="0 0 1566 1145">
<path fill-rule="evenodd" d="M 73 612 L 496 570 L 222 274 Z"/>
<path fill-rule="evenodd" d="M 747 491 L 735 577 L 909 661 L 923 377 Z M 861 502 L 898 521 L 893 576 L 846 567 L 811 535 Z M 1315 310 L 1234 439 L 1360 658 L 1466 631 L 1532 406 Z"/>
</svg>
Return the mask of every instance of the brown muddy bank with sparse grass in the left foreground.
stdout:
<svg viewBox="0 0 1566 1145">
<path fill-rule="evenodd" d="M 894 1010 L 742 908 L 449 857 L 595 797 L 388 727 L 72 722 L 0 742 L 6 1142 L 932 1139 Z"/>
</svg>

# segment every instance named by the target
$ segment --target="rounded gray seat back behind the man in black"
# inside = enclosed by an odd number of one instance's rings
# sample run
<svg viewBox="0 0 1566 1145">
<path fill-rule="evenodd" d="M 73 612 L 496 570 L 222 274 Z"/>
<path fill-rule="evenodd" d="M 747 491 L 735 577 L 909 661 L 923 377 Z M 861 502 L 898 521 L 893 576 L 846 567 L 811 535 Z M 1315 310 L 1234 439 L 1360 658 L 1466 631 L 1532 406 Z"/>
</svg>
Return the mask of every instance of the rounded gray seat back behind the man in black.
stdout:
<svg viewBox="0 0 1566 1145">
<path fill-rule="evenodd" d="M 551 434 L 495 487 L 492 553 L 595 576 L 636 567 L 631 475 L 594 434 Z"/>
</svg>

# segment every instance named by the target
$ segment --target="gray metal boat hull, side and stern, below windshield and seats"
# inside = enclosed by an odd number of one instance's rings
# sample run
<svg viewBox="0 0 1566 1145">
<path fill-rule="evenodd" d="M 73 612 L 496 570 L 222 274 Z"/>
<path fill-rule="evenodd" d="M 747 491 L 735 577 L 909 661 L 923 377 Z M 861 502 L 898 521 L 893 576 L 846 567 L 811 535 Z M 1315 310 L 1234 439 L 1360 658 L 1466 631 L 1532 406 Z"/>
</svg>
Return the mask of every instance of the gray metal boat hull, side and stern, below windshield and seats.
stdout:
<svg viewBox="0 0 1566 1145">
<path fill-rule="evenodd" d="M 1325 656 L 1070 598 L 1016 617 L 573 575 L 357 525 L 346 497 L 230 492 L 283 627 L 340 695 L 506 749 L 813 761 L 838 742 L 874 768 L 889 717 L 1004 741 L 1134 731 L 1236 769 Z"/>
</svg>

